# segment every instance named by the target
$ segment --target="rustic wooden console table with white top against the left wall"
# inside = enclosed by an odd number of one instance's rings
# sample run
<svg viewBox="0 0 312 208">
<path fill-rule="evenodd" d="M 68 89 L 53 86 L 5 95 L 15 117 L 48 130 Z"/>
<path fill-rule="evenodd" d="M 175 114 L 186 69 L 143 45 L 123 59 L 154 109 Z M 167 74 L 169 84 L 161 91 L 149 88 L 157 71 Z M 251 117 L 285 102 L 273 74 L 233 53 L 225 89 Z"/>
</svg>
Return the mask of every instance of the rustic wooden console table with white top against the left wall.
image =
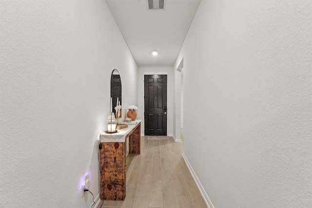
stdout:
<svg viewBox="0 0 312 208">
<path fill-rule="evenodd" d="M 133 124 L 133 125 L 131 125 Z M 126 197 L 126 141 L 129 153 L 140 154 L 141 120 L 128 124 L 117 133 L 102 132 L 100 141 L 100 199 L 123 201 Z"/>
</svg>

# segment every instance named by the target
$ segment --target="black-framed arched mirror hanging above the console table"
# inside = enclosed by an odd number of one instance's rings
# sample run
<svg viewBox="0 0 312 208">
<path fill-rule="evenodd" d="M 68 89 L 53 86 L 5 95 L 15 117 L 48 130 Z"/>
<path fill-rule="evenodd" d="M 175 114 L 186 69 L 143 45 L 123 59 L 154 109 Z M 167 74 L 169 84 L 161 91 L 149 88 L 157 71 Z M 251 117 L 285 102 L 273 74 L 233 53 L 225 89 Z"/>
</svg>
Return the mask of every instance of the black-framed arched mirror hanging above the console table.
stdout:
<svg viewBox="0 0 312 208">
<path fill-rule="evenodd" d="M 113 98 L 112 111 L 116 113 L 117 97 L 121 105 L 121 79 L 117 69 L 113 70 L 111 76 L 111 97 Z"/>
</svg>

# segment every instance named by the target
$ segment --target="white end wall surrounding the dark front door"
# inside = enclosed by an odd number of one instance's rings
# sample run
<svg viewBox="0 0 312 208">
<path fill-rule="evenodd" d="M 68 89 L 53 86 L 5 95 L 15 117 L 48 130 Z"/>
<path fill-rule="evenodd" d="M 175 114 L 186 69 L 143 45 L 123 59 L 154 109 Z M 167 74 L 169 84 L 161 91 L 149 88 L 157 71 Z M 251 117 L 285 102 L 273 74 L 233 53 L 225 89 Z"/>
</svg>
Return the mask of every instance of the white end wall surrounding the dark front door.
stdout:
<svg viewBox="0 0 312 208">
<path fill-rule="evenodd" d="M 144 75 L 164 74 L 167 75 L 167 135 L 173 136 L 174 119 L 174 70 L 172 67 L 139 67 L 137 72 L 137 119 L 142 120 L 141 135 L 144 135 Z"/>
</svg>

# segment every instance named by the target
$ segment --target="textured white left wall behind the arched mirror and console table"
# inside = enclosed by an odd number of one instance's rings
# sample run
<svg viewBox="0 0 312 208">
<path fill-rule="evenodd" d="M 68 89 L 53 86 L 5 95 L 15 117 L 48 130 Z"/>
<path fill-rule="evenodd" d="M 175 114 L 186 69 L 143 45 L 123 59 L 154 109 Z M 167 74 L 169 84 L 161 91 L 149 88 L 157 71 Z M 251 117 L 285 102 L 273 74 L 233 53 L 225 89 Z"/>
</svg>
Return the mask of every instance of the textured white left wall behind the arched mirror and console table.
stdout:
<svg viewBox="0 0 312 208">
<path fill-rule="evenodd" d="M 128 106 L 137 65 L 103 0 L 0 1 L 0 28 L 0 207 L 89 208 L 112 69 Z"/>
</svg>

